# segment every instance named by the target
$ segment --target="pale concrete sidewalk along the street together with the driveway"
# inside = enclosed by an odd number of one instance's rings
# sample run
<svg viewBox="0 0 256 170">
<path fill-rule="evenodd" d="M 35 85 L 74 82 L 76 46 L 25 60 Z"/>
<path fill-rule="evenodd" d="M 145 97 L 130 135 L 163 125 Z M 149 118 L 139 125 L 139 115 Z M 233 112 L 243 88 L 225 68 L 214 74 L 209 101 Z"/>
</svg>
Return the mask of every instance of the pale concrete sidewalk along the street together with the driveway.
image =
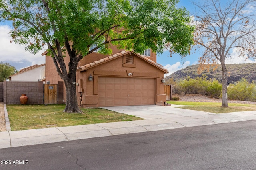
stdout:
<svg viewBox="0 0 256 170">
<path fill-rule="evenodd" d="M 234 113 L 208 113 L 179 109 L 172 106 L 116 106 L 104 109 L 134 115 L 145 120 L 99 123 L 68 127 L 0 132 L 0 148 L 18 147 L 104 137 L 128 133 L 158 131 L 181 127 L 212 125 L 235 121 L 256 120 L 256 111 Z"/>
</svg>

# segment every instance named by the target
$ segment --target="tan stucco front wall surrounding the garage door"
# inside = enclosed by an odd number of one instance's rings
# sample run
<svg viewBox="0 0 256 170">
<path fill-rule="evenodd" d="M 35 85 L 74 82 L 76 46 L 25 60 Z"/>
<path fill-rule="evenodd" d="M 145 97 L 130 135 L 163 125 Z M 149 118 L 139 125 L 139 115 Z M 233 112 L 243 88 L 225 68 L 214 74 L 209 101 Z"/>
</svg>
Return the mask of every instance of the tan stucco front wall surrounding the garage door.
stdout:
<svg viewBox="0 0 256 170">
<path fill-rule="evenodd" d="M 120 56 L 106 63 L 89 68 L 86 71 L 77 72 L 77 80 L 82 80 L 82 86 L 81 84 L 78 85 L 77 90 L 80 90 L 81 88 L 83 89 L 82 104 L 84 107 L 98 106 L 98 76 L 155 78 L 155 101 L 156 104 L 164 105 L 164 102 L 166 102 L 166 97 L 164 95 L 164 84 L 161 82 L 162 78 L 164 77 L 164 72 L 136 55 L 134 55 L 135 67 L 134 64 L 132 64 L 133 66 L 131 67 L 124 64 L 123 58 L 124 56 Z M 128 73 L 132 73 L 132 76 L 128 76 Z M 94 78 L 94 80 L 91 82 L 88 80 L 90 74 L 92 74 Z"/>
</svg>

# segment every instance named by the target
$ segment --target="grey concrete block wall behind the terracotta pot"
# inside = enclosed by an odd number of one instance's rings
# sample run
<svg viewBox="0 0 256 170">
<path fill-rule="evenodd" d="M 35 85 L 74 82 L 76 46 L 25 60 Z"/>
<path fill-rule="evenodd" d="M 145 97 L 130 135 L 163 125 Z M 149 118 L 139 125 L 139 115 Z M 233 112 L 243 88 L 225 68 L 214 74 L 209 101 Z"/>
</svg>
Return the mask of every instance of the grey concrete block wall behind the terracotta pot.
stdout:
<svg viewBox="0 0 256 170">
<path fill-rule="evenodd" d="M 21 94 L 28 96 L 27 104 L 44 103 L 43 82 L 6 82 L 4 81 L 4 104 L 20 104 Z"/>
</svg>

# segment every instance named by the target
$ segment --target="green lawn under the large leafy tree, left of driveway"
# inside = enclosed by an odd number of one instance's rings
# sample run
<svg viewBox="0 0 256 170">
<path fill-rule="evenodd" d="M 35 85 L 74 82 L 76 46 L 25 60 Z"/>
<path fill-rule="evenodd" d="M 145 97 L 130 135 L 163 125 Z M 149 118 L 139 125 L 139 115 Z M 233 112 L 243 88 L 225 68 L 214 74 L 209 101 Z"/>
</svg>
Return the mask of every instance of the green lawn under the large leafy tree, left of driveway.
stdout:
<svg viewBox="0 0 256 170">
<path fill-rule="evenodd" d="M 58 104 L 7 105 L 12 131 L 142 119 L 100 108 L 82 108 L 83 114 L 64 113 L 64 108 Z"/>
</svg>

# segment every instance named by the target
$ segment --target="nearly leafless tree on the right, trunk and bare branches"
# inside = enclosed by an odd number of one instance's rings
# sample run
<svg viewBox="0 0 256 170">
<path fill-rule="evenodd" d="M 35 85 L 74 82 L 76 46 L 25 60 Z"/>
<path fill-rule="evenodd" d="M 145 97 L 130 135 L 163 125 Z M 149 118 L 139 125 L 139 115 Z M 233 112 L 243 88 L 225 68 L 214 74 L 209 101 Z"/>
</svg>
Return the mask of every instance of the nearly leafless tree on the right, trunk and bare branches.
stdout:
<svg viewBox="0 0 256 170">
<path fill-rule="evenodd" d="M 204 47 L 198 59 L 201 69 L 218 61 L 222 66 L 222 107 L 228 107 L 226 57 L 236 51 L 246 59 L 256 56 L 256 0 L 202 0 L 192 2 L 195 47 Z"/>
</svg>

